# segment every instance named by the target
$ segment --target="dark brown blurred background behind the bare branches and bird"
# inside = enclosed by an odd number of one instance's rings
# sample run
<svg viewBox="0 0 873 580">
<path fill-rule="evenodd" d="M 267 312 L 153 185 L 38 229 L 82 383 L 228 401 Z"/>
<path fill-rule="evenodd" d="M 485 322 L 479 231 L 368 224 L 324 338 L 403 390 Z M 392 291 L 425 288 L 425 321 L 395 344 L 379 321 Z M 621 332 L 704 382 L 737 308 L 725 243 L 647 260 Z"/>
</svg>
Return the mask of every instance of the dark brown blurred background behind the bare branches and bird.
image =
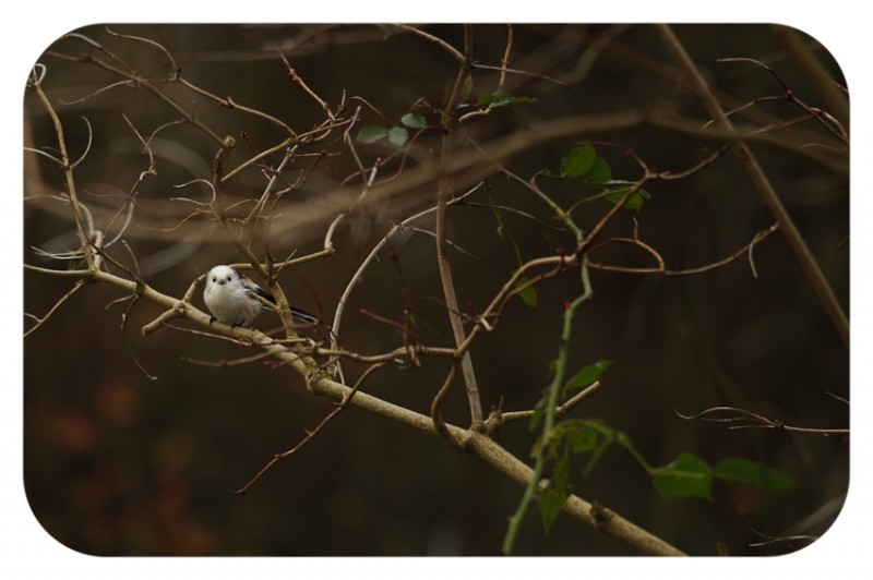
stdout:
<svg viewBox="0 0 873 580">
<path fill-rule="evenodd" d="M 359 96 L 382 113 L 364 107 L 363 121 L 386 126 L 395 124 L 419 98 L 439 106 L 456 74 L 456 63 L 439 47 L 392 27 L 117 25 L 111 29 L 159 43 L 191 83 L 266 111 L 298 132 L 321 122 L 324 112 L 288 77 L 276 47 L 322 98 L 333 105 L 344 90 Z M 462 46 L 459 25 L 424 29 Z M 476 25 L 473 29 L 476 61 L 499 65 L 506 27 Z M 79 32 L 133 63 L 143 76 L 168 74 L 166 58 L 153 46 L 112 36 L 103 26 Z M 778 29 L 685 25 L 675 32 L 726 108 L 781 95 L 782 89 L 758 67 L 716 62 L 725 57 L 766 62 L 800 99 L 825 107 L 815 83 L 779 43 Z M 471 123 L 471 133 L 482 142 L 539 121 L 582 113 L 638 108 L 669 110 L 701 124 L 707 119 L 650 26 L 526 24 L 515 25 L 513 33 L 510 65 L 534 74 L 510 75 L 507 88 L 536 101 L 498 109 Z M 799 34 L 809 53 L 845 86 L 826 49 Z M 85 50 L 99 53 L 75 38 L 59 39 L 50 49 L 73 56 Z M 81 100 L 119 77 L 52 55 L 39 61 L 48 68 L 44 87 L 64 123 L 73 157 L 87 141 L 82 117 L 93 129 L 91 152 L 76 169 L 80 196 L 95 208 L 111 209 L 147 167 L 122 113 L 143 134 L 179 114 L 143 88 L 117 86 Z M 475 71 L 474 95 L 479 89 L 493 90 L 497 77 L 495 72 Z M 217 107 L 178 85 L 162 86 L 190 104 L 196 118 L 220 136 L 239 140 L 244 131 L 260 149 L 283 138 L 280 131 L 263 120 Z M 25 95 L 24 107 L 25 145 L 55 146 L 49 119 L 33 94 Z M 765 126 L 794 119 L 802 111 L 779 100 L 744 112 L 734 118 L 739 124 Z M 775 131 L 784 131 L 779 134 L 793 147 L 755 144 L 753 150 L 848 311 L 848 161 L 841 169 L 828 170 L 811 160 L 817 152 L 832 155 L 828 158 L 840 155 L 832 136 L 814 121 Z M 419 155 L 430 155 L 439 143 L 436 133 L 421 136 Z M 157 176 L 140 189 L 143 214 L 170 197 L 203 198 L 202 190 L 174 185 L 208 179 L 216 152 L 215 143 L 190 126 L 164 130 L 158 137 L 153 142 Z M 632 147 L 659 171 L 690 168 L 719 145 L 651 128 L 579 134 L 531 148 L 510 167 L 526 179 L 545 168 L 557 171 L 566 150 L 582 140 Z M 358 148 L 370 162 L 392 150 L 384 144 Z M 343 148 L 334 144 L 331 150 Z M 306 149 L 319 152 L 318 145 Z M 618 149 L 600 153 L 612 165 L 614 177 L 639 176 Z M 231 166 L 250 155 L 240 140 Z M 288 179 L 310 168 L 302 188 L 292 194 L 312 204 L 354 170 L 348 155 L 319 162 L 314 155 L 301 156 Z M 386 170 L 380 177 L 387 174 Z M 235 181 L 228 193 L 259 195 L 264 185 L 263 176 L 252 170 Z M 540 186 L 563 207 L 579 197 L 577 188 L 557 180 L 540 178 Z M 69 207 L 46 198 L 63 190 L 62 173 L 41 156 L 29 155 L 25 188 L 25 195 L 34 198 L 25 202 L 24 259 L 59 267 L 36 256 L 33 246 L 53 251 L 74 246 Z M 651 200 L 638 213 L 622 212 L 605 235 L 630 235 L 636 218 L 641 238 L 658 249 L 671 268 L 721 259 L 774 222 L 732 155 L 689 179 L 653 182 L 646 189 Z M 409 195 L 426 207 L 428 192 Z M 488 203 L 489 196 L 497 204 L 550 219 L 539 201 L 505 178 L 490 179 L 488 188 L 471 200 Z M 367 207 L 349 216 L 337 232 L 333 257 L 299 266 L 297 276 L 283 274 L 291 300 L 332 319 L 360 261 L 393 221 L 410 213 L 398 207 Z M 587 230 L 609 207 L 605 201 L 587 204 L 574 217 Z M 452 253 L 458 297 L 463 305 L 480 312 L 517 267 L 514 251 L 499 235 L 490 208 L 453 208 L 450 216 L 452 241 L 473 254 Z M 570 243 L 566 232 L 517 214 L 504 212 L 501 219 L 525 258 Z M 328 222 L 283 230 L 271 240 L 271 251 L 277 257 L 316 251 Z M 146 281 L 177 297 L 212 265 L 243 259 L 232 244 L 202 229 L 208 227 L 205 220 L 194 219 L 168 232 L 172 223 L 178 219 L 140 222 L 134 218 L 125 234 L 130 252 L 119 245 L 113 255 L 125 263 L 135 255 Z M 432 228 L 432 220 L 420 226 Z M 254 249 L 261 251 L 263 244 Z M 405 297 L 420 321 L 422 342 L 450 346 L 433 239 L 406 234 L 392 244 L 392 252 L 396 263 L 383 254 L 352 293 L 342 330 L 344 346 L 364 353 L 399 346 L 396 330 L 360 309 L 402 321 Z M 650 265 L 630 247 L 603 251 L 598 259 Z M 848 427 L 848 407 L 829 395 L 849 398 L 847 347 L 779 232 L 756 245 L 754 259 L 757 279 L 744 261 L 687 277 L 594 271 L 595 298 L 581 310 L 574 326 L 574 366 L 598 359 L 615 362 L 603 376 L 600 392 L 572 416 L 601 419 L 624 431 L 654 466 L 691 451 L 710 464 L 725 457 L 762 461 L 796 479 L 797 485 L 785 492 L 717 483 L 711 502 L 667 499 L 619 447 L 607 451 L 587 478 L 581 474 L 584 459 L 578 461 L 573 472 L 576 493 L 694 555 L 714 555 L 719 545 L 732 555 L 770 555 L 802 547 L 802 542 L 749 544 L 761 540 L 756 532 L 774 536 L 824 533 L 847 491 L 845 437 L 728 430 L 686 421 L 674 412 L 691 414 L 730 404 L 791 425 Z M 25 273 L 25 312 L 41 316 L 70 286 L 63 278 Z M 501 400 L 504 410 L 529 409 L 541 397 L 549 382 L 549 363 L 558 352 L 563 304 L 578 293 L 574 273 L 547 280 L 538 287 L 536 307 L 511 301 L 498 329 L 476 343 L 471 354 L 487 410 Z M 438 437 L 354 407 L 299 454 L 279 462 L 247 495 L 231 493 L 273 454 L 292 447 L 332 404 L 312 397 L 302 379 L 286 368 L 261 362 L 219 368 L 188 360 L 232 360 L 253 354 L 250 349 L 170 329 L 143 338 L 142 326 L 162 312 L 155 304 L 139 302 L 122 328 L 128 303 L 111 304 L 122 297 L 116 288 L 88 287 L 25 340 L 24 483 L 35 516 L 59 542 L 99 555 L 499 553 L 522 488 L 476 457 L 455 454 Z M 202 307 L 199 295 L 194 303 Z M 258 322 L 260 328 L 275 324 L 272 315 Z M 157 379 L 150 380 L 136 361 Z M 446 371 L 440 360 L 427 360 L 419 370 L 383 370 L 364 390 L 428 413 Z M 360 368 L 349 364 L 347 372 L 354 377 Z M 466 426 L 465 404 L 458 385 L 446 419 Z M 506 425 L 500 434 L 501 443 L 525 460 L 534 438 L 526 423 Z M 547 535 L 535 510 L 524 523 L 518 553 L 635 554 L 566 515 L 559 516 Z"/>
</svg>

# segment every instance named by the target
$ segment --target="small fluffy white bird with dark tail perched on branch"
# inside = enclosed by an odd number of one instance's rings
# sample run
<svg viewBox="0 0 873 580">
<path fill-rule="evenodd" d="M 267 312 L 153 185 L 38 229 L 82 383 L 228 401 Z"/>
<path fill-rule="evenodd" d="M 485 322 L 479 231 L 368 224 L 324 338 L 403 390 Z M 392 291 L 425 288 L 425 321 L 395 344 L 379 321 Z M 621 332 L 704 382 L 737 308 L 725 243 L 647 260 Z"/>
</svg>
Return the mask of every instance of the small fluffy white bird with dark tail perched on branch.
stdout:
<svg viewBox="0 0 873 580">
<path fill-rule="evenodd" d="M 276 303 L 273 294 L 230 266 L 215 266 L 206 275 L 203 301 L 212 312 L 213 318 L 219 323 L 251 326 L 261 311 L 268 307 L 258 300 L 255 294 L 271 304 Z M 291 307 L 291 315 L 308 323 L 319 322 L 311 314 L 295 307 Z"/>
</svg>

